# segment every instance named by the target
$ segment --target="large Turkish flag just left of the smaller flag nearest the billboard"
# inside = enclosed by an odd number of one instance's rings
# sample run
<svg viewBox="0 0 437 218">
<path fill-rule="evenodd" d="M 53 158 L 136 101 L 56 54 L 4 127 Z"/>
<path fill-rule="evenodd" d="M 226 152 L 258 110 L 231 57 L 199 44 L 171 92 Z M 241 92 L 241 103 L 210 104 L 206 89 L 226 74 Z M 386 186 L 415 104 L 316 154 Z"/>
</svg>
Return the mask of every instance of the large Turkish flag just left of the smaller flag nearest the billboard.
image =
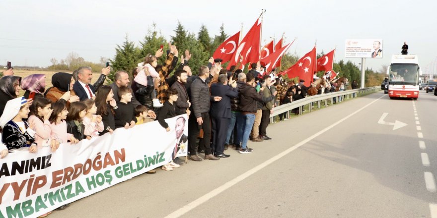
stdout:
<svg viewBox="0 0 437 218">
<path fill-rule="evenodd" d="M 311 52 L 303 55 L 294 65 L 286 69 L 284 72 L 281 72 L 280 74 L 287 73 L 289 78 L 294 78 L 298 76 L 299 79 L 305 80 L 305 86 L 309 86 L 312 82 L 312 77 L 314 75 L 314 61 L 316 60 L 316 58 L 316 47 L 314 47 Z"/>
</svg>

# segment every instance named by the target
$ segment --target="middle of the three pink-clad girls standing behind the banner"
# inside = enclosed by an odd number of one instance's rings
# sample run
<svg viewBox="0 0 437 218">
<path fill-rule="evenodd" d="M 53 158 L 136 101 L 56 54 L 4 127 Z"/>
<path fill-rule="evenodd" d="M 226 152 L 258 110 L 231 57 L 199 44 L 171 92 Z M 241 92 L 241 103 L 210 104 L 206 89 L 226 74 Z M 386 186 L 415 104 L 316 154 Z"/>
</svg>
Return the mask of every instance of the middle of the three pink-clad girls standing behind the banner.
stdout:
<svg viewBox="0 0 437 218">
<path fill-rule="evenodd" d="M 74 138 L 73 134 L 67 132 L 67 119 L 68 110 L 66 107 L 66 101 L 60 100 L 52 104 L 52 115 L 49 118 L 50 127 L 52 132 L 50 136 L 56 139 L 59 143 L 76 144 L 79 140 Z"/>
</svg>

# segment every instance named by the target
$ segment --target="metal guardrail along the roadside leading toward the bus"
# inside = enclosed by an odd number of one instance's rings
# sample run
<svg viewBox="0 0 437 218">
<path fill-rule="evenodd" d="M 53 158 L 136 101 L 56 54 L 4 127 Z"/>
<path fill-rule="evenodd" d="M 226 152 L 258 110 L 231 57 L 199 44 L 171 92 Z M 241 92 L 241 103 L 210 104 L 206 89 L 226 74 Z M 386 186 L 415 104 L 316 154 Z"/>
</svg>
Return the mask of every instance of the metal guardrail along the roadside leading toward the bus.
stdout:
<svg viewBox="0 0 437 218">
<path fill-rule="evenodd" d="M 342 102 L 343 98 L 346 97 L 349 99 L 349 97 L 352 96 L 352 98 L 356 98 L 359 95 L 365 94 L 365 93 L 372 93 L 376 91 L 380 91 L 381 86 L 374 86 L 374 87 L 368 87 L 364 89 L 352 89 L 352 90 L 346 90 L 346 91 L 339 91 L 339 92 L 333 92 L 328 94 L 322 94 L 322 95 L 315 95 L 311 97 L 306 97 L 304 99 L 300 99 L 294 102 L 291 102 L 286 105 L 281 105 L 278 107 L 273 108 L 273 114 L 270 114 L 270 121 L 273 121 L 273 117 L 277 116 L 281 113 L 288 112 L 292 109 L 299 108 L 299 114 L 302 114 L 303 106 L 312 104 L 314 102 L 317 102 L 317 108 L 320 108 L 321 102 L 324 101 L 325 107 L 328 105 L 328 100 L 331 100 L 331 105 L 334 102 L 334 98 L 336 98 L 337 102 Z M 355 93 L 355 95 L 354 95 Z M 309 107 L 309 111 L 311 111 L 312 107 Z"/>
</svg>

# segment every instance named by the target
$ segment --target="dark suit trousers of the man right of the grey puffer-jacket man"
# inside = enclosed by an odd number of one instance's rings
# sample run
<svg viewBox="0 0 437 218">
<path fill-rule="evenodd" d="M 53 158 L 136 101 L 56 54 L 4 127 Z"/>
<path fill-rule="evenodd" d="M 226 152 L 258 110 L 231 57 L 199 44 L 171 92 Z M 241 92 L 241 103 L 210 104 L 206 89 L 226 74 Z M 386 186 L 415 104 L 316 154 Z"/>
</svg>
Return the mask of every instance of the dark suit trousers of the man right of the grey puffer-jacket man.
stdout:
<svg viewBox="0 0 437 218">
<path fill-rule="evenodd" d="M 213 117 L 213 150 L 215 155 L 221 155 L 224 151 L 224 142 L 226 141 L 227 127 L 230 118 Z"/>
</svg>

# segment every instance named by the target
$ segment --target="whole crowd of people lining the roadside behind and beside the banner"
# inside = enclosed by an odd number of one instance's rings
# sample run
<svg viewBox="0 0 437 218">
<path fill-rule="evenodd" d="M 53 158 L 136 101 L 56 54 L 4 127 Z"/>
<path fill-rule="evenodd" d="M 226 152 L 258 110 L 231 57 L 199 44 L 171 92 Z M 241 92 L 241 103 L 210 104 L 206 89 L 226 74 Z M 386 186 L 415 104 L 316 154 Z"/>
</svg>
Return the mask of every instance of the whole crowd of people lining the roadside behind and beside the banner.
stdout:
<svg viewBox="0 0 437 218">
<path fill-rule="evenodd" d="M 265 72 L 260 62 L 243 73 L 239 69 L 242 56 L 229 70 L 222 68 L 221 59 L 211 57 L 193 75 L 188 66 L 190 52 L 179 59 L 177 48 L 169 47 L 164 63 L 157 61 L 162 49 L 147 54 L 132 71 L 132 81 L 130 72 L 120 70 L 110 85 L 104 85 L 110 66 L 102 69 L 94 84 L 87 66 L 73 73 L 55 73 L 53 87 L 48 89 L 43 74 L 21 78 L 13 75 L 13 69 L 4 71 L 0 79 L 0 158 L 8 152 L 34 153 L 42 147 L 55 152 L 61 143 L 75 144 L 154 120 L 170 131 L 165 119 L 186 113 L 188 158 L 218 161 L 230 156 L 224 152 L 230 148 L 240 154 L 253 152 L 249 140 L 271 140 L 267 129 L 272 109 L 305 98 L 309 88 L 303 80 L 295 84 L 274 70 Z M 25 90 L 23 97 L 18 97 L 20 89 Z M 286 114 L 280 119 L 287 119 Z M 174 158 L 161 169 L 173 170 L 182 164 Z"/>
</svg>

